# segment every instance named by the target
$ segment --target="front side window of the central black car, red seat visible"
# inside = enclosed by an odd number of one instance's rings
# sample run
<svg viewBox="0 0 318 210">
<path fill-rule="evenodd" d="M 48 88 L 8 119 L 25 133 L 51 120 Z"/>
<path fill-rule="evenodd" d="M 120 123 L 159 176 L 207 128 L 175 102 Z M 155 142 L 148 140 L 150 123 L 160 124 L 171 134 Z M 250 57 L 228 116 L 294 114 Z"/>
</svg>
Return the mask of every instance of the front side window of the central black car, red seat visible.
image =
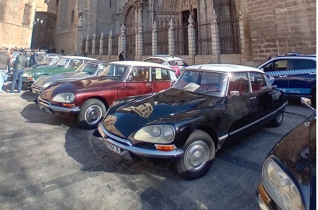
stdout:
<svg viewBox="0 0 318 210">
<path fill-rule="evenodd" d="M 231 74 L 228 96 L 230 96 L 231 91 L 234 90 L 239 91 L 240 95 L 246 95 L 250 93 L 247 73 L 239 72 Z"/>
</svg>

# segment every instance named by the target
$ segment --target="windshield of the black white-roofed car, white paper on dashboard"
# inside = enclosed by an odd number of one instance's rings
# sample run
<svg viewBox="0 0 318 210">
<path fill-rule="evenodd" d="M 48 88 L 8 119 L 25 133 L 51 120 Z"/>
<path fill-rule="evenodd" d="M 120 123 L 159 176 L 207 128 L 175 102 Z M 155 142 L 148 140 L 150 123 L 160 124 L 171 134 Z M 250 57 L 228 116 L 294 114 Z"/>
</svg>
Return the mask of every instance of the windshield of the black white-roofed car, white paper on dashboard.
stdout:
<svg viewBox="0 0 318 210">
<path fill-rule="evenodd" d="M 225 73 L 185 70 L 172 88 L 223 97 L 228 80 Z"/>
</svg>

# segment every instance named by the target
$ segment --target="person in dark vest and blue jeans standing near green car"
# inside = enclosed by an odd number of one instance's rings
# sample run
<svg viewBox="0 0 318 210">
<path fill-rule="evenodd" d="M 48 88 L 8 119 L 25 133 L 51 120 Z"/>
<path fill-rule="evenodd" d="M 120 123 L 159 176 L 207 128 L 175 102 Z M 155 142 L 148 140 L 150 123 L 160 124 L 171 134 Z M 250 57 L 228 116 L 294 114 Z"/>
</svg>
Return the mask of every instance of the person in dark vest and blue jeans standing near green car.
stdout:
<svg viewBox="0 0 318 210">
<path fill-rule="evenodd" d="M 12 84 L 11 84 L 11 89 L 10 92 L 8 93 L 9 95 L 14 94 L 14 87 L 15 87 L 15 82 L 17 79 L 19 79 L 19 84 L 18 84 L 18 91 L 17 94 L 21 95 L 21 90 L 22 90 L 22 80 L 23 80 L 23 71 L 28 65 L 28 60 L 25 57 L 25 51 L 22 49 L 19 51 L 20 55 L 16 57 L 16 60 L 14 62 L 14 71 L 13 71 L 13 79 L 12 79 Z"/>
</svg>

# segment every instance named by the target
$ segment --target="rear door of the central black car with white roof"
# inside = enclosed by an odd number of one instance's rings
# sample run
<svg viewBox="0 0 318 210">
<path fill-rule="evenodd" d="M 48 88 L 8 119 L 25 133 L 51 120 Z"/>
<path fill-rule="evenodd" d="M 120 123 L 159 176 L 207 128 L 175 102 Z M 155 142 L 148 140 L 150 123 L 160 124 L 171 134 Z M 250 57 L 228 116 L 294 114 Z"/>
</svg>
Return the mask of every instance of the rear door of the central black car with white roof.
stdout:
<svg viewBox="0 0 318 210">
<path fill-rule="evenodd" d="M 252 92 L 255 95 L 253 99 L 256 107 L 257 119 L 266 120 L 272 119 L 271 114 L 275 114 L 277 106 L 275 104 L 275 92 L 279 91 L 272 86 L 267 86 L 264 75 L 258 72 L 250 72 L 250 83 Z"/>
</svg>

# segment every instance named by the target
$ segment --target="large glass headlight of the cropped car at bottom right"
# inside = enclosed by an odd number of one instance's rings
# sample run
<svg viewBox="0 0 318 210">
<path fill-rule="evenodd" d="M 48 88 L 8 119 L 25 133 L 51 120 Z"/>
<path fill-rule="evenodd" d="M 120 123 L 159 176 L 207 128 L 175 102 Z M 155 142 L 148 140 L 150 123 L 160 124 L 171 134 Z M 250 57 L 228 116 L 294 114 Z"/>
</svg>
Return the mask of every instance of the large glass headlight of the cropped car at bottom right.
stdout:
<svg viewBox="0 0 318 210">
<path fill-rule="evenodd" d="M 262 171 L 262 180 L 268 194 L 282 209 L 301 209 L 301 197 L 295 183 L 274 160 L 265 160 Z"/>
</svg>

